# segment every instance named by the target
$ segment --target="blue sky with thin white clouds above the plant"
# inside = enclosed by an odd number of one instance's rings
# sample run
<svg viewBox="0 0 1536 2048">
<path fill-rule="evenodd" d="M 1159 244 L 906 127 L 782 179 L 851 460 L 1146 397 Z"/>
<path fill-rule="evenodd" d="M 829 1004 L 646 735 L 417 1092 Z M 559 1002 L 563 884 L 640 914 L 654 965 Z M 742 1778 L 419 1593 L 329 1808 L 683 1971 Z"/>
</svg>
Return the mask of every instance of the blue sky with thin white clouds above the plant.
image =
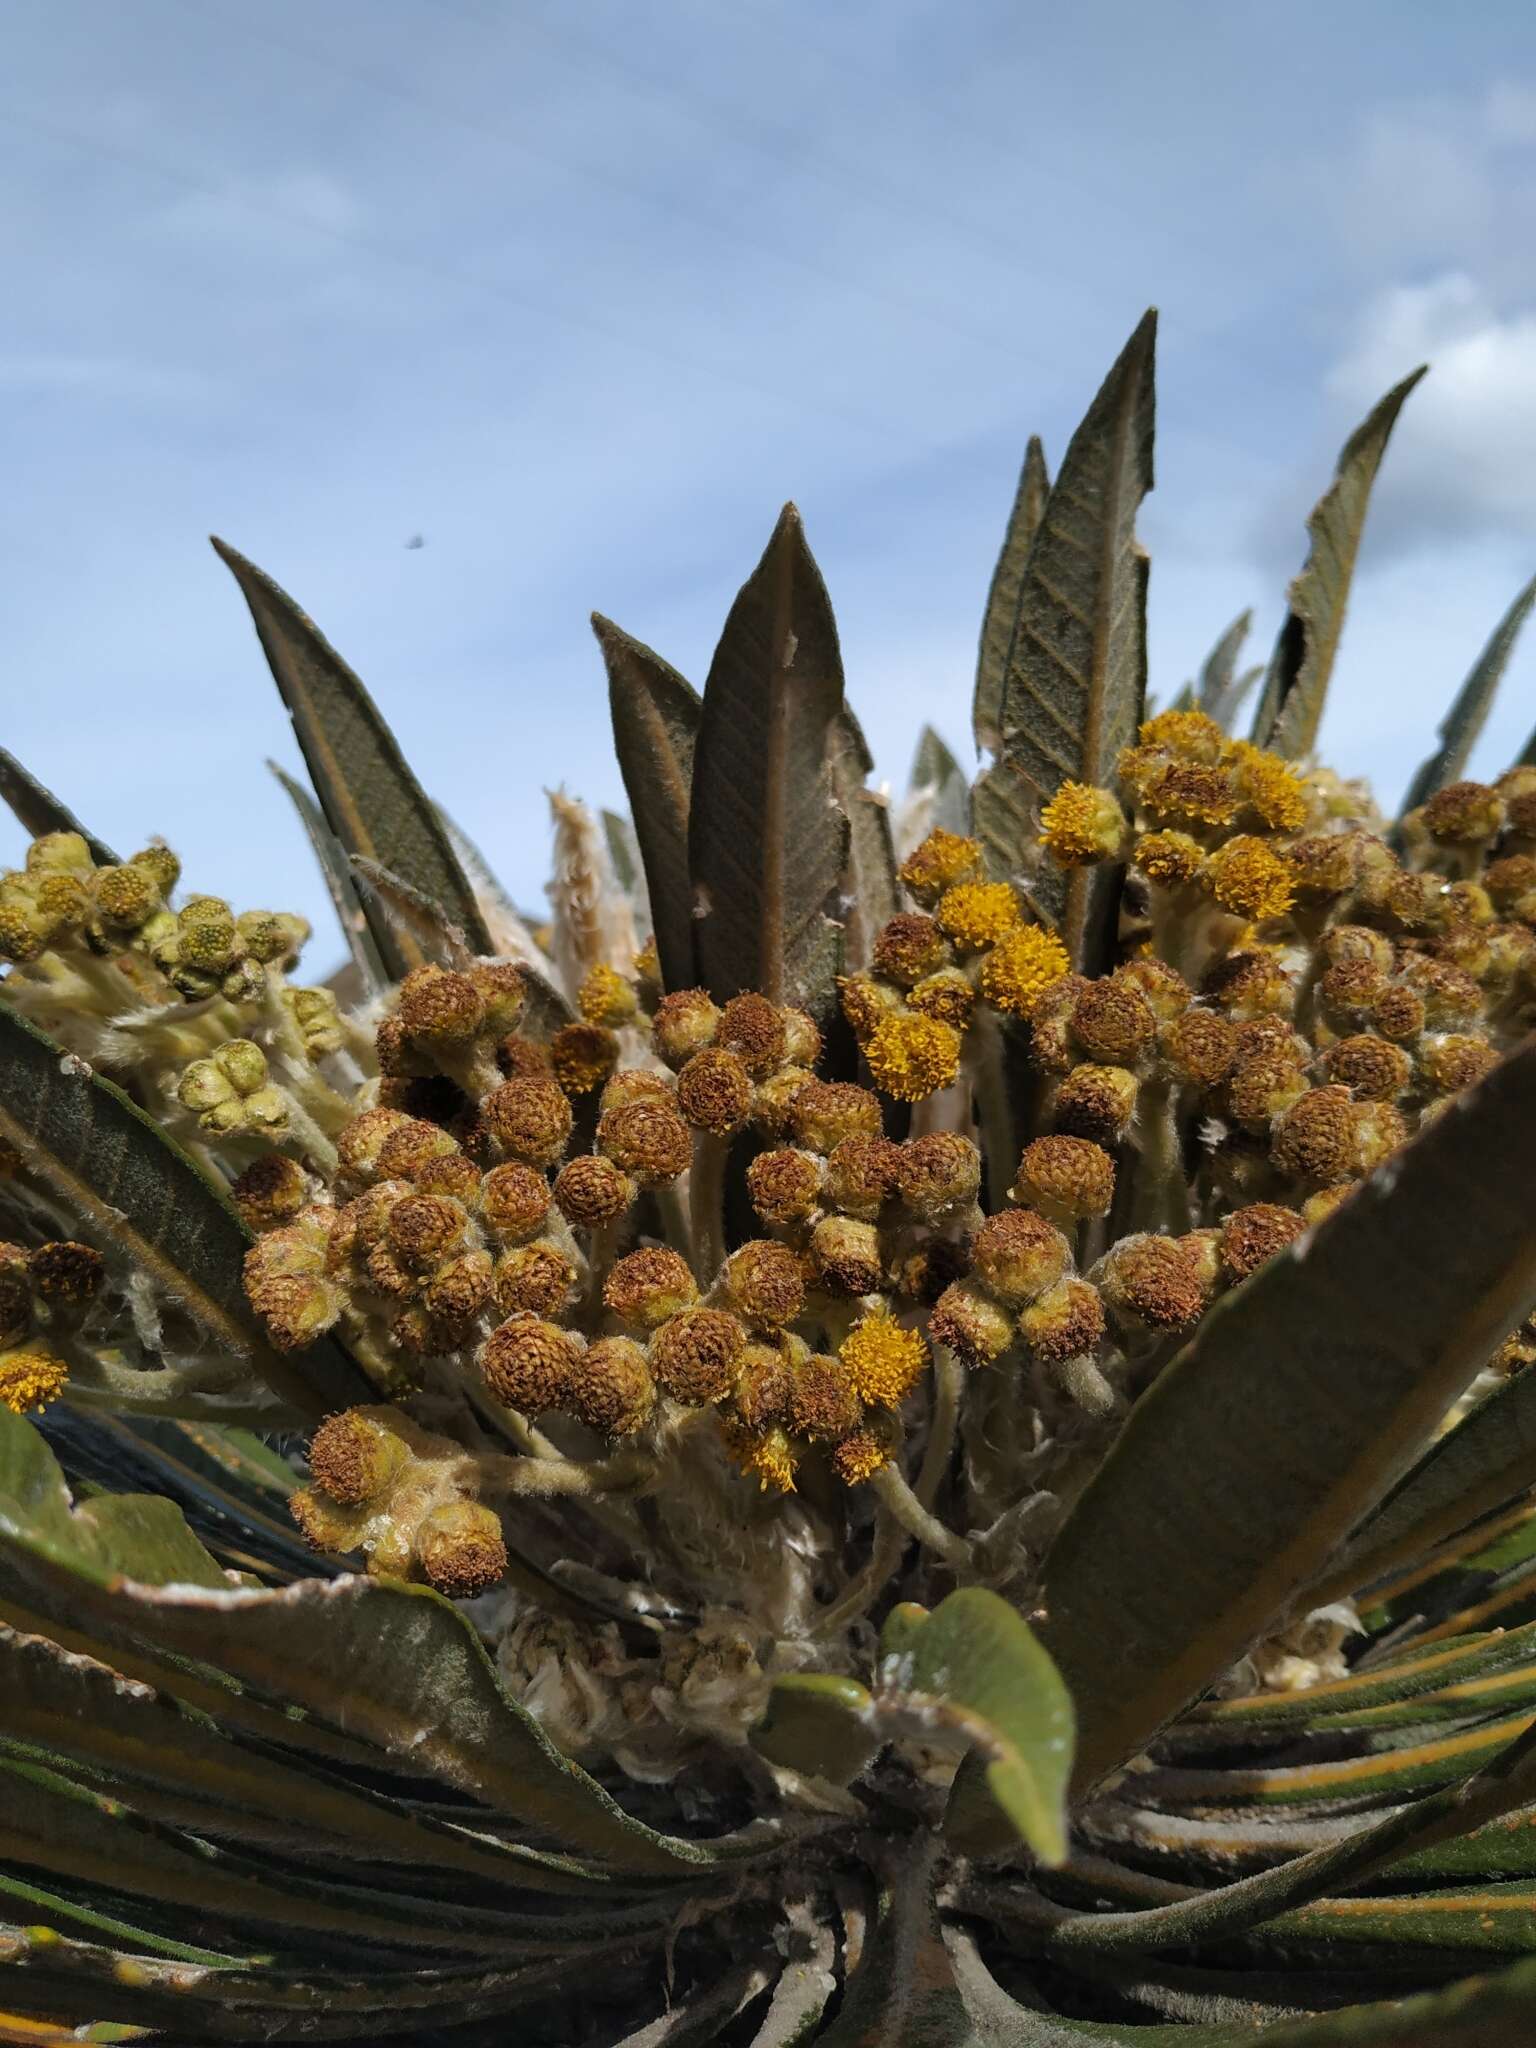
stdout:
<svg viewBox="0 0 1536 2048">
<path fill-rule="evenodd" d="M 1483 0 L 0 0 L 4 741 L 338 950 L 219 532 L 522 901 L 795 498 L 893 780 L 969 741 L 1024 438 L 1161 307 L 1153 686 L 1268 653 L 1415 362 L 1325 748 L 1395 797 L 1536 569 L 1536 14 Z M 412 535 L 422 549 L 408 549 Z M 1477 766 L 1536 725 L 1536 637 Z M 6 831 L 10 827 L 6 825 Z M 4 850 L 14 854 L 20 834 Z"/>
</svg>

